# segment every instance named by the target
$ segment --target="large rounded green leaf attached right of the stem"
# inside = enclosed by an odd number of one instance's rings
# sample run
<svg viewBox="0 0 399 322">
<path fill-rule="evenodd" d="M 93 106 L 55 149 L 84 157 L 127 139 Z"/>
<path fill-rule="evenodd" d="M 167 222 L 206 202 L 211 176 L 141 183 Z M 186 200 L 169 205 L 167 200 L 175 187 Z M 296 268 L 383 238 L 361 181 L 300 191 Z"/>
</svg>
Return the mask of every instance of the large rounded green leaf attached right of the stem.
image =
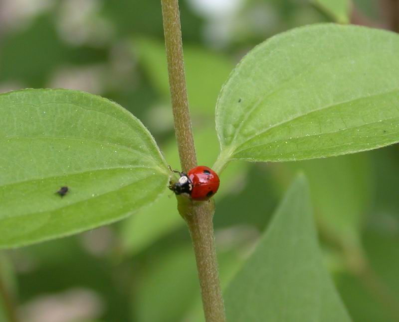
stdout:
<svg viewBox="0 0 399 322">
<path fill-rule="evenodd" d="M 398 142 L 398 52 L 398 34 L 334 24 L 260 44 L 220 93 L 216 168 L 231 159 L 312 159 Z"/>
</svg>

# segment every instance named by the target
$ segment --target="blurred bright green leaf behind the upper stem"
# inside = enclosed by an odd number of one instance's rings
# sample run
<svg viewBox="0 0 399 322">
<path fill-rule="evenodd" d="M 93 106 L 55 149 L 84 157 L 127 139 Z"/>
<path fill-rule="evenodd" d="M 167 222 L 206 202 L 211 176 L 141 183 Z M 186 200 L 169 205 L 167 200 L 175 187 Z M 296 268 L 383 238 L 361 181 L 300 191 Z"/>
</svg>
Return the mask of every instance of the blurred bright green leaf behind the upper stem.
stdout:
<svg viewBox="0 0 399 322">
<path fill-rule="evenodd" d="M 134 41 L 140 62 L 158 91 L 170 98 L 165 45 L 138 38 Z M 217 95 L 234 65 L 223 55 L 200 47 L 185 46 L 185 72 L 190 107 L 195 114 L 214 115 Z"/>
</svg>

